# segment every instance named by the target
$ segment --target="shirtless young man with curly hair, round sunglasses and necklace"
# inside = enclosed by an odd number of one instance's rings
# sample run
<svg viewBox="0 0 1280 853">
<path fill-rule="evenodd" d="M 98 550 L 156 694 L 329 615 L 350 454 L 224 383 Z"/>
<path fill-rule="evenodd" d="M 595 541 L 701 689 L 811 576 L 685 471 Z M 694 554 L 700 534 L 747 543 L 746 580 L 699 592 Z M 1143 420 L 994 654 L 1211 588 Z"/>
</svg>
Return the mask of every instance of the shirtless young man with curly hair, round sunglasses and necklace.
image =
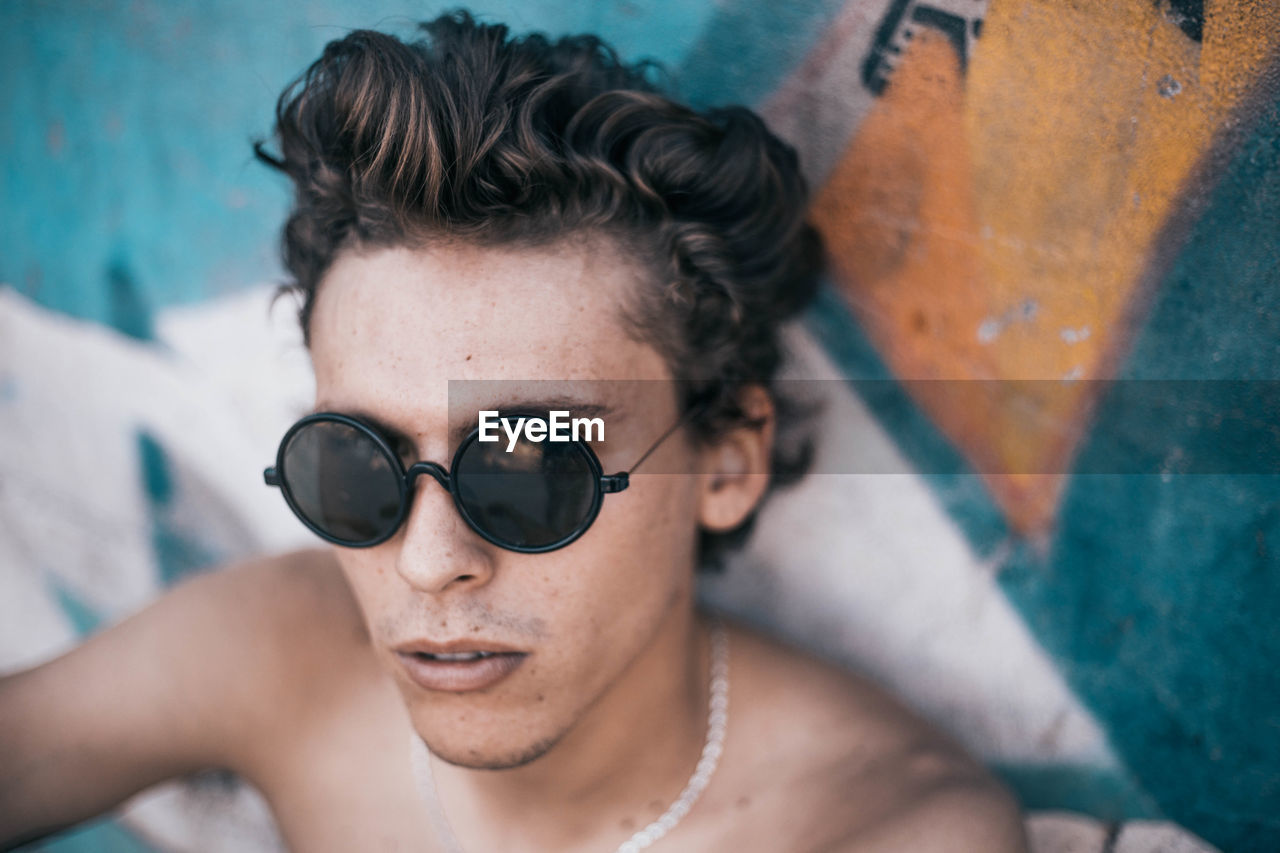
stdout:
<svg viewBox="0 0 1280 853">
<path fill-rule="evenodd" d="M 425 29 L 330 44 L 260 149 L 297 188 L 316 410 L 371 430 L 329 420 L 274 479 L 365 547 L 205 575 L 0 681 L 0 844 L 225 767 L 307 852 L 630 850 L 664 813 L 654 849 L 1024 849 L 1011 798 L 946 738 L 695 606 L 699 565 L 782 470 L 778 321 L 820 254 L 790 149 L 746 110 L 672 104 L 593 38 Z M 594 520 L 563 510 L 589 478 L 503 526 L 444 488 L 466 476 L 453 450 L 480 409 L 548 401 L 477 382 L 467 409 L 451 379 L 572 380 L 557 406 L 602 416 L 604 474 L 655 448 Z M 392 480 L 383 515 L 367 494 L 316 508 L 308 488 L 349 497 L 326 478 L 356 447 L 362 475 L 416 474 L 412 500 Z"/>
</svg>

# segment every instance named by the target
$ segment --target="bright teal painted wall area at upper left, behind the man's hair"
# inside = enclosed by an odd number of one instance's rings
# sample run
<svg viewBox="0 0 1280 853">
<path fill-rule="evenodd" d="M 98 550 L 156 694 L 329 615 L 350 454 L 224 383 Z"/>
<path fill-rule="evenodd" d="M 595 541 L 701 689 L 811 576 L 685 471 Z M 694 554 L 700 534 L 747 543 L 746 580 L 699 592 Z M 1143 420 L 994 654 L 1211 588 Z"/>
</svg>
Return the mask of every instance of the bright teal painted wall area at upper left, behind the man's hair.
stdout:
<svg viewBox="0 0 1280 853">
<path fill-rule="evenodd" d="M 408 36 L 440 3 L 0 5 L 0 280 L 146 337 L 159 306 L 279 275 L 283 183 L 251 156 L 325 42 Z M 479 3 L 513 29 L 608 33 L 677 67 L 710 4 Z"/>
</svg>

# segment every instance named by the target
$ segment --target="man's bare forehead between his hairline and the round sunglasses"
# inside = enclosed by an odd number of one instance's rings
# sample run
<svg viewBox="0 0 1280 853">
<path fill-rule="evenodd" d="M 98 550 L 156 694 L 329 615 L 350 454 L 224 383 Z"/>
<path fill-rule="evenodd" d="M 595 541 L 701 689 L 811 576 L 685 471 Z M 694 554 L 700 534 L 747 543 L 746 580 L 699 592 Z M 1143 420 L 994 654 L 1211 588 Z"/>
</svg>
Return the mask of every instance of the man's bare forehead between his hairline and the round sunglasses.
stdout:
<svg viewBox="0 0 1280 853">
<path fill-rule="evenodd" d="M 520 405 L 623 414 L 635 394 L 616 383 L 668 382 L 669 371 L 623 325 L 635 268 L 607 245 L 594 250 L 579 241 L 340 257 L 312 314 L 317 409 L 433 429 Z"/>
</svg>

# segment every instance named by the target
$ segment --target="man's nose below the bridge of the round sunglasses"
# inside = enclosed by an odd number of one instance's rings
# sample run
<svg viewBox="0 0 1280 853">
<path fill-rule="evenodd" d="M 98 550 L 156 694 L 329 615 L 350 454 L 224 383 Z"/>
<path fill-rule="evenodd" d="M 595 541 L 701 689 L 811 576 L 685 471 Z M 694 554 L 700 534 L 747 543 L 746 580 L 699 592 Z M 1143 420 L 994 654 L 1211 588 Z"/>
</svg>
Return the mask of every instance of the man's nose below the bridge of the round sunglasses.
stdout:
<svg viewBox="0 0 1280 853">
<path fill-rule="evenodd" d="M 493 546 L 467 526 L 442 475 L 424 470 L 413 480 L 412 505 L 397 537 L 396 571 L 433 594 L 483 587 L 494 573 Z"/>
</svg>

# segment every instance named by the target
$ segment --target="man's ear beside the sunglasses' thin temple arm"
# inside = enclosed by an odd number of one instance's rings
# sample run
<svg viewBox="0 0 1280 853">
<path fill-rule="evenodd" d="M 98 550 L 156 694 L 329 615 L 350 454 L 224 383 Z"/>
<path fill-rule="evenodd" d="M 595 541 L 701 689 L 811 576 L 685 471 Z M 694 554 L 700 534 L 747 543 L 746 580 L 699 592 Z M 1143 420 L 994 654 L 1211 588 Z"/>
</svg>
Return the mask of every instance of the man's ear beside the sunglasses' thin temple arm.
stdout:
<svg viewBox="0 0 1280 853">
<path fill-rule="evenodd" d="M 701 450 L 698 520 L 716 533 L 740 525 L 769 487 L 773 400 L 762 386 L 745 386 L 737 400 L 748 423 L 732 426 Z"/>
</svg>

